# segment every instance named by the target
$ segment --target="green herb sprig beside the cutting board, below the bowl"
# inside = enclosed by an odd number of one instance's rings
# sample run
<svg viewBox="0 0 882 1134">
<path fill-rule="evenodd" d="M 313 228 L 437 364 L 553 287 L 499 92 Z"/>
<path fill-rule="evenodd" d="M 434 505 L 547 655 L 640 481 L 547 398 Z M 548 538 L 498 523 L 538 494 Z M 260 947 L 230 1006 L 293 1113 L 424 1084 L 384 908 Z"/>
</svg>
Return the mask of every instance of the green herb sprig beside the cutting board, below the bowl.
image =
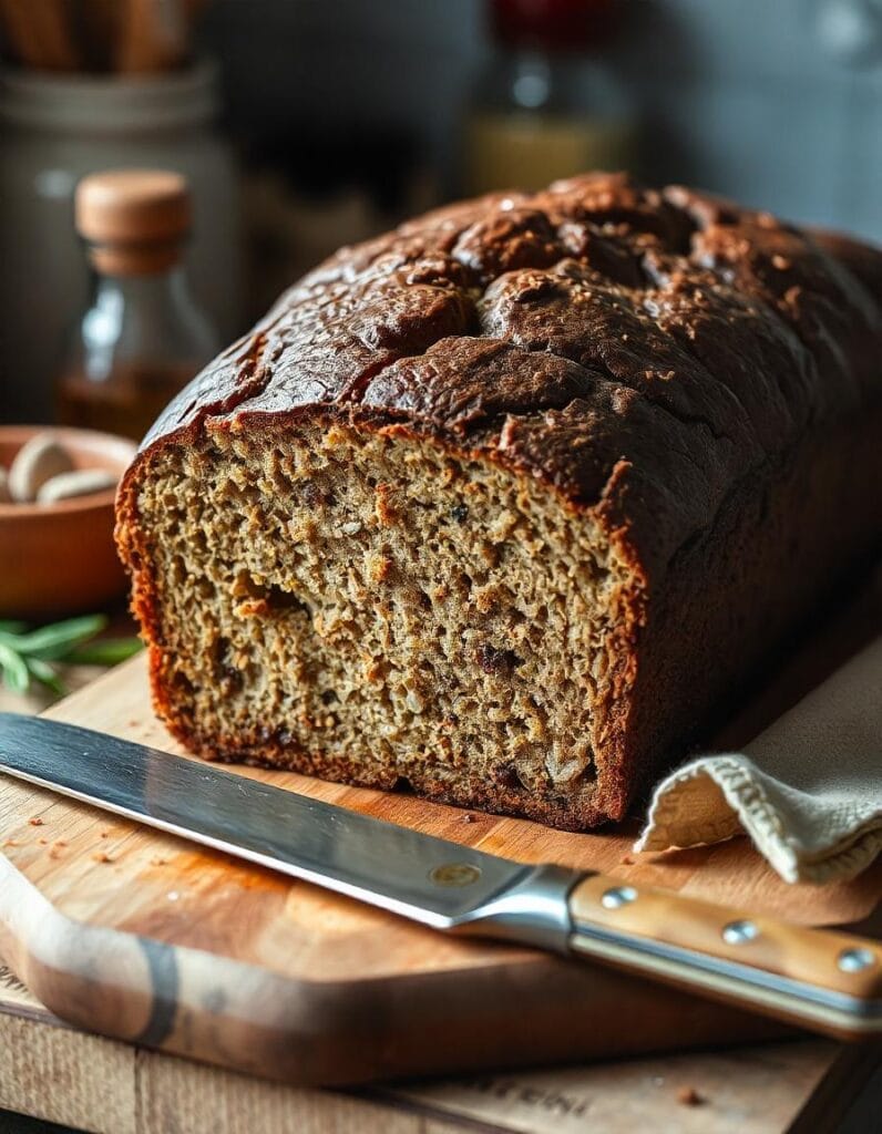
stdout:
<svg viewBox="0 0 882 1134">
<path fill-rule="evenodd" d="M 27 693 L 32 682 L 59 696 L 66 692 L 62 666 L 116 666 L 137 653 L 135 637 L 93 641 L 107 626 L 104 615 L 83 615 L 32 629 L 25 623 L 0 619 L 0 676 L 15 693 Z"/>
</svg>

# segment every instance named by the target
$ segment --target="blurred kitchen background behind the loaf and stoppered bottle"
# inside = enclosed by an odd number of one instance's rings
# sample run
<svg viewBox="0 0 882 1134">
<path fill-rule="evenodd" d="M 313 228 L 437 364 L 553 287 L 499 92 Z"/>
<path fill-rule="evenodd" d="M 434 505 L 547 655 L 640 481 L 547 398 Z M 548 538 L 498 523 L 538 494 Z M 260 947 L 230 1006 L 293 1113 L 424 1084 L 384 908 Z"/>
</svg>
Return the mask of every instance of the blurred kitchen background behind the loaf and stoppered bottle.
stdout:
<svg viewBox="0 0 882 1134">
<path fill-rule="evenodd" d="M 882 0 L 0 0 L 0 421 L 49 421 L 95 170 L 185 175 L 220 341 L 338 245 L 588 166 L 882 243 Z"/>
</svg>

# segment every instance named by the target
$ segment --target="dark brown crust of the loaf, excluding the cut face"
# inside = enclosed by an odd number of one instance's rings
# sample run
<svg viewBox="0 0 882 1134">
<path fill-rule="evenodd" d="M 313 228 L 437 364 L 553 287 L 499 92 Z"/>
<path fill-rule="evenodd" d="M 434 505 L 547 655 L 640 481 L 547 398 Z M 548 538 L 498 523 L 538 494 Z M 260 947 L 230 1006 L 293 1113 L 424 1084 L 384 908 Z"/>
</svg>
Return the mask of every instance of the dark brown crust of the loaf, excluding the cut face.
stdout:
<svg viewBox="0 0 882 1134">
<path fill-rule="evenodd" d="M 593 694 L 590 792 L 524 782 L 502 754 L 495 778 L 409 765 L 409 780 L 561 826 L 620 818 L 877 543 L 880 279 L 865 245 L 610 175 L 453 205 L 342 249 L 171 403 L 120 490 L 158 710 L 205 753 L 394 784 L 393 760 L 366 771 L 287 729 L 221 735 L 187 711 L 143 490 L 161 455 L 221 435 L 341 426 L 428 445 L 544 485 L 573 524 L 598 525 L 629 576 Z"/>
</svg>

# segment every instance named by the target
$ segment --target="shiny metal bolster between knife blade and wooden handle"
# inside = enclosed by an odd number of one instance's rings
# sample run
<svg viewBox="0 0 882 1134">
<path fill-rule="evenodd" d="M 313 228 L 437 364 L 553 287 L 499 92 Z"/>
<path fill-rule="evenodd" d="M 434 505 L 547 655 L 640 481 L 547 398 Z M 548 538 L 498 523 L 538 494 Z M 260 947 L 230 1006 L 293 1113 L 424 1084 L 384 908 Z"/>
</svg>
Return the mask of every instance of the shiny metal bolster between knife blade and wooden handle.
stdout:
<svg viewBox="0 0 882 1134">
<path fill-rule="evenodd" d="M 564 866 L 535 866 L 520 882 L 457 917 L 451 930 L 569 954 L 573 924 L 566 899 L 585 877 L 585 871 Z"/>
</svg>

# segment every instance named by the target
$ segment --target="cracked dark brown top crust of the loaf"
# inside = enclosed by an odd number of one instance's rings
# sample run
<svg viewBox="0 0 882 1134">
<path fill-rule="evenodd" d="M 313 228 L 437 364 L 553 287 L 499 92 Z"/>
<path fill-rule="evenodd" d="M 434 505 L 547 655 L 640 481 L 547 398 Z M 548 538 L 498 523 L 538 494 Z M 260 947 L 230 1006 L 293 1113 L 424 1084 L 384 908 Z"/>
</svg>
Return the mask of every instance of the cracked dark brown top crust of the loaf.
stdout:
<svg viewBox="0 0 882 1134">
<path fill-rule="evenodd" d="M 144 439 L 304 414 L 480 451 L 644 567 L 809 429 L 882 393 L 882 252 L 624 175 L 494 194 L 343 248 Z"/>
</svg>

